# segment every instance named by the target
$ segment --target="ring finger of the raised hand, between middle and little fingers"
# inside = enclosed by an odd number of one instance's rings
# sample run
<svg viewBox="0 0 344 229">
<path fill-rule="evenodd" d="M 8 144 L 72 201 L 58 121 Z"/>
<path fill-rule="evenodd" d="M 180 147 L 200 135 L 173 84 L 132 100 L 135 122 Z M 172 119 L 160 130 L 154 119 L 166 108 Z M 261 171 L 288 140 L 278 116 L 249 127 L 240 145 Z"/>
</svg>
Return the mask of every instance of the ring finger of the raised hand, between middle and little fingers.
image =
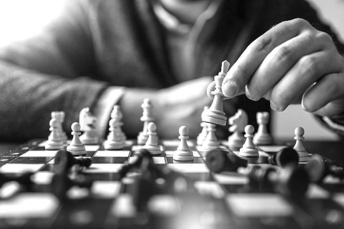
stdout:
<svg viewBox="0 0 344 229">
<path fill-rule="evenodd" d="M 318 79 L 329 72 L 339 72 L 341 67 L 339 59 L 327 51 L 302 57 L 274 86 L 270 98 L 271 109 L 284 111 Z M 329 91 L 320 93 L 323 97 L 331 94 Z"/>
</svg>

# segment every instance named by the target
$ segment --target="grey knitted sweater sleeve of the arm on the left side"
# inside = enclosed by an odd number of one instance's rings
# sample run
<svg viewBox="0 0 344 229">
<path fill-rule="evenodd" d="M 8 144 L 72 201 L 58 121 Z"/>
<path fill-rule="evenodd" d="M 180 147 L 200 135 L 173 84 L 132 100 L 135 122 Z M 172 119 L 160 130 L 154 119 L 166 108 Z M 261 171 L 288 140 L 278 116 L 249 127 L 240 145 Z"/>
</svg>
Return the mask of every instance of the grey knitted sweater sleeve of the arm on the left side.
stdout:
<svg viewBox="0 0 344 229">
<path fill-rule="evenodd" d="M 66 113 L 70 133 L 107 89 L 90 77 L 97 72 L 86 1 L 68 2 L 39 35 L 0 49 L 0 140 L 46 138 L 52 111 Z"/>
</svg>

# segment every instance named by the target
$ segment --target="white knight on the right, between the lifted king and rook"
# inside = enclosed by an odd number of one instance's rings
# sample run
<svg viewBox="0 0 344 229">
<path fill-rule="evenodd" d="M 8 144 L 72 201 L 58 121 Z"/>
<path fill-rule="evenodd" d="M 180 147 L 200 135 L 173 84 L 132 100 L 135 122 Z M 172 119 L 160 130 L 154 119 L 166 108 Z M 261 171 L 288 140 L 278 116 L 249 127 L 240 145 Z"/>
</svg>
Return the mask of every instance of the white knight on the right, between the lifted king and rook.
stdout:
<svg viewBox="0 0 344 229">
<path fill-rule="evenodd" d="M 231 125 L 228 129 L 229 132 L 233 132 L 228 137 L 228 148 L 237 151 L 246 140 L 242 132 L 244 132 L 245 126 L 248 124 L 248 116 L 244 110 L 238 109 L 237 113 L 228 119 L 228 123 Z"/>
</svg>

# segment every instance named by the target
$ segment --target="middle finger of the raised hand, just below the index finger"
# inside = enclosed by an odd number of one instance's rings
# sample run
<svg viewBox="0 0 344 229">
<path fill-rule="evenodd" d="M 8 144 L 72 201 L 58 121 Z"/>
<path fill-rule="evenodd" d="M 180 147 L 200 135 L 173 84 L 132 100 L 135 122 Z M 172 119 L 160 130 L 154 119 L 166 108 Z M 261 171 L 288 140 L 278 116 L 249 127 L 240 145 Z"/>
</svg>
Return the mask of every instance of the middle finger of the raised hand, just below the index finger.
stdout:
<svg viewBox="0 0 344 229">
<path fill-rule="evenodd" d="M 328 38 L 318 34 L 305 32 L 274 48 L 250 78 L 245 89 L 247 98 L 260 100 L 301 57 L 324 50 Z"/>
</svg>

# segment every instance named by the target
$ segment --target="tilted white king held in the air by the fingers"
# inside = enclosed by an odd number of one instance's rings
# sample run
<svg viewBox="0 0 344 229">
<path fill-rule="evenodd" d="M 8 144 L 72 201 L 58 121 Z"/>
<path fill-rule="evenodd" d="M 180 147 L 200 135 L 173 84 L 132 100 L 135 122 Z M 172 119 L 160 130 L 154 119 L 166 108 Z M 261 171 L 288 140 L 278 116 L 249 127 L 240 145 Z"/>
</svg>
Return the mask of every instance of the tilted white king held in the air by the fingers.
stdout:
<svg viewBox="0 0 344 229">
<path fill-rule="evenodd" d="M 223 112 L 223 100 L 225 96 L 222 93 L 222 82 L 226 76 L 229 69 L 228 61 L 223 61 L 221 66 L 221 72 L 214 77 L 215 80 L 215 90 L 211 92 L 211 95 L 214 95 L 214 100 L 210 108 L 206 111 L 202 121 L 214 123 L 218 125 L 225 125 L 227 117 Z"/>
</svg>

